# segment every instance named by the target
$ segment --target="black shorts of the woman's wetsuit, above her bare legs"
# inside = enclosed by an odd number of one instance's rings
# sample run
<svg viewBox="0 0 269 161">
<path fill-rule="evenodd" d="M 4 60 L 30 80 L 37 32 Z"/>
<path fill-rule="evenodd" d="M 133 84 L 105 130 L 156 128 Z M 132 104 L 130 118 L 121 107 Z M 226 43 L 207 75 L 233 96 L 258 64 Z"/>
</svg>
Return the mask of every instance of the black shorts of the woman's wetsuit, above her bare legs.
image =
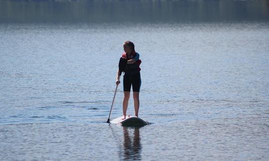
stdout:
<svg viewBox="0 0 269 161">
<path fill-rule="evenodd" d="M 131 85 L 133 87 L 133 92 L 139 92 L 141 86 L 140 72 L 129 74 L 124 74 L 124 91 L 131 91 Z"/>
</svg>

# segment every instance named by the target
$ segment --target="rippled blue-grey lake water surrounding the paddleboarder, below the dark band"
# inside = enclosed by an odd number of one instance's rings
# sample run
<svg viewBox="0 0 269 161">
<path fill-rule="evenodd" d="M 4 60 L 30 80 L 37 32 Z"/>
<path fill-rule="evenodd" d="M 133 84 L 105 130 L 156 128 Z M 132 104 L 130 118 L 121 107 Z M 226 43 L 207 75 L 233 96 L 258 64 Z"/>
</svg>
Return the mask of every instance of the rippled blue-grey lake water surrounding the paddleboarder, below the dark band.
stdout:
<svg viewBox="0 0 269 161">
<path fill-rule="evenodd" d="M 141 128 L 106 123 L 126 40 Z M 269 160 L 268 42 L 267 21 L 0 23 L 0 160 Z"/>
</svg>

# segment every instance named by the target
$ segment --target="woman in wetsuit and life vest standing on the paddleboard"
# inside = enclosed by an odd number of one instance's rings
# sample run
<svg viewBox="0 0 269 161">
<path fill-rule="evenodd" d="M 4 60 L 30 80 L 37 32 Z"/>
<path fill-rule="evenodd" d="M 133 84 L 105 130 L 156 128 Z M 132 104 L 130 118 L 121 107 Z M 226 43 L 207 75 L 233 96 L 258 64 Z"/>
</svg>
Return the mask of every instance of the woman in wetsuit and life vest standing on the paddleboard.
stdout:
<svg viewBox="0 0 269 161">
<path fill-rule="evenodd" d="M 121 59 L 126 59 L 127 64 L 123 69 L 124 72 L 124 100 L 123 100 L 123 118 L 126 119 L 126 112 L 128 108 L 128 102 L 130 98 L 131 86 L 133 87 L 133 96 L 134 96 L 134 112 L 135 116 L 138 117 L 139 110 L 139 90 L 141 86 L 140 78 L 140 68 L 139 65 L 141 60 L 139 59 L 139 54 L 134 50 L 134 43 L 131 41 L 124 42 L 124 53 Z M 122 70 L 117 72 L 116 84 L 120 84 L 120 75 Z"/>
</svg>

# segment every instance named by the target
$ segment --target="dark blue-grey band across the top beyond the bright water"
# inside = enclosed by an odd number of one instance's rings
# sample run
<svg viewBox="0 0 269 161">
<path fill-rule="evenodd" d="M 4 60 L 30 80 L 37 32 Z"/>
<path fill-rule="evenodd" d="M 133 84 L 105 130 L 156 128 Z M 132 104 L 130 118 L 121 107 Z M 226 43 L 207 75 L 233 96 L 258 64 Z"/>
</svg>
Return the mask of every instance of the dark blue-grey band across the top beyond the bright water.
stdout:
<svg viewBox="0 0 269 161">
<path fill-rule="evenodd" d="M 269 0 L 0 0 L 0 23 L 268 20 Z"/>
</svg>

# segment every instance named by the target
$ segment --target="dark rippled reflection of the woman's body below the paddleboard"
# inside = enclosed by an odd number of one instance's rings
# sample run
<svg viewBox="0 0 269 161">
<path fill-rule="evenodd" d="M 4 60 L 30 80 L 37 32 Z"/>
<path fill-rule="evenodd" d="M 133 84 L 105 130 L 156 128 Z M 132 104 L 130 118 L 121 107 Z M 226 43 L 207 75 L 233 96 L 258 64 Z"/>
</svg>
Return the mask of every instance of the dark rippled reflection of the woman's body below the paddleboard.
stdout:
<svg viewBox="0 0 269 161">
<path fill-rule="evenodd" d="M 122 156 L 124 160 L 140 160 L 141 144 L 139 136 L 139 127 L 128 128 L 123 127 L 124 132 L 124 151 Z"/>
</svg>

